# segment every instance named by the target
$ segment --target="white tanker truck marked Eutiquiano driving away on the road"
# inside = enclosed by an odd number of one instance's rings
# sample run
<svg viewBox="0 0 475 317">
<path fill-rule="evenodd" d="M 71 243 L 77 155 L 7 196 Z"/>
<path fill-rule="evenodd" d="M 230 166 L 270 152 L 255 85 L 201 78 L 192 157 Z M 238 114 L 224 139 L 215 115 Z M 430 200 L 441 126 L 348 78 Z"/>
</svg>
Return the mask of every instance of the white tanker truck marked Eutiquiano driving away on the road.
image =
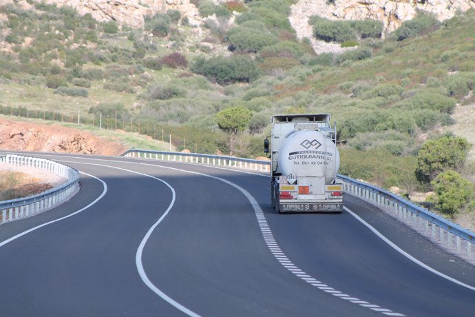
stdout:
<svg viewBox="0 0 475 317">
<path fill-rule="evenodd" d="M 264 152 L 271 152 L 271 202 L 277 212 L 342 212 L 337 130 L 330 120 L 330 114 L 272 116 Z"/>
</svg>

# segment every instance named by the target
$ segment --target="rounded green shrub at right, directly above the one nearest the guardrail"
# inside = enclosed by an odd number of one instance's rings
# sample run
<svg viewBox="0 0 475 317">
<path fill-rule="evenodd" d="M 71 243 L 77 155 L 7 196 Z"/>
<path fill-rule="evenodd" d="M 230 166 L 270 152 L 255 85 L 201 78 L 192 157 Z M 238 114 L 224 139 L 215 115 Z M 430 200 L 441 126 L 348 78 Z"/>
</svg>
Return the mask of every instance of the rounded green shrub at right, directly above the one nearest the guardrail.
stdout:
<svg viewBox="0 0 475 317">
<path fill-rule="evenodd" d="M 467 140 L 459 136 L 444 136 L 425 142 L 417 156 L 417 179 L 429 183 L 445 170 L 461 169 L 470 147 Z"/>
</svg>

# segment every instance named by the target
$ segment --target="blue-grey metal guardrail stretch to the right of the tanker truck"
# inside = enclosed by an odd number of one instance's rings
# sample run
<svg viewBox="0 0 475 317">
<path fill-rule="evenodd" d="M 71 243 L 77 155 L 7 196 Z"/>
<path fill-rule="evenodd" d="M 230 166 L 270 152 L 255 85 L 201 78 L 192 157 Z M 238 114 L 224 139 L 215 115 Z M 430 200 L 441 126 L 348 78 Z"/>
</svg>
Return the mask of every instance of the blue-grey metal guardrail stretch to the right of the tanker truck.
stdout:
<svg viewBox="0 0 475 317">
<path fill-rule="evenodd" d="M 475 234 L 438 214 L 379 187 L 338 175 L 344 192 L 361 198 L 408 225 L 445 251 L 475 265 Z"/>
</svg>

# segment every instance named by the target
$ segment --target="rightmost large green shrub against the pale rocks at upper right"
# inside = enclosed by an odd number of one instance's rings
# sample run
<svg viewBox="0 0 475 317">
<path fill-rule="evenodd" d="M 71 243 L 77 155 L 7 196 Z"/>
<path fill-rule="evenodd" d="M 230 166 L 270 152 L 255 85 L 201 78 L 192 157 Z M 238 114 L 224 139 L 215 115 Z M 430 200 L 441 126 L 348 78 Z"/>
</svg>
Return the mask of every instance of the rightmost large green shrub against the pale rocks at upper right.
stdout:
<svg viewBox="0 0 475 317">
<path fill-rule="evenodd" d="M 431 32 L 439 28 L 440 22 L 430 13 L 419 13 L 417 16 L 409 21 L 404 21 L 403 24 L 393 32 L 392 37 L 397 41 L 403 41 L 410 37 Z"/>
</svg>

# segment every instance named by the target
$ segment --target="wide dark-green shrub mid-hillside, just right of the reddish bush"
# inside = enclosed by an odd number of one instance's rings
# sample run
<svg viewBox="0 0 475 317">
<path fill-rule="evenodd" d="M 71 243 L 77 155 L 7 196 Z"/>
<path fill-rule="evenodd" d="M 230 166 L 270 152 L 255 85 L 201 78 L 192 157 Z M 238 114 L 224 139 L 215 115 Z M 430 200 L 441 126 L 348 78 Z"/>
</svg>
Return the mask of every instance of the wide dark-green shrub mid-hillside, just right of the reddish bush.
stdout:
<svg viewBox="0 0 475 317">
<path fill-rule="evenodd" d="M 244 55 L 231 57 L 198 57 L 191 65 L 191 71 L 207 76 L 208 79 L 228 85 L 229 83 L 250 82 L 257 79 L 259 70 L 254 61 Z"/>
</svg>

